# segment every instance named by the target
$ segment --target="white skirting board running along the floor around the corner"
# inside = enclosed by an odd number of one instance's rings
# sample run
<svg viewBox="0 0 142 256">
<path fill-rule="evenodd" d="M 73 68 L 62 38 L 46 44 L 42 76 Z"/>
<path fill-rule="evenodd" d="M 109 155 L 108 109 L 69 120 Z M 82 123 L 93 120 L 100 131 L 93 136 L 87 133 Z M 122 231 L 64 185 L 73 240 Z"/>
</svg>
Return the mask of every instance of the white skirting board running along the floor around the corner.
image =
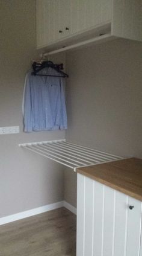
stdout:
<svg viewBox="0 0 142 256">
<path fill-rule="evenodd" d="M 45 213 L 46 211 L 55 210 L 61 207 L 65 207 L 72 213 L 76 214 L 76 208 L 73 205 L 70 205 L 70 203 L 67 203 L 66 201 L 61 201 L 57 203 L 51 203 L 50 205 L 40 206 L 38 208 L 34 208 L 28 211 L 23 211 L 21 213 L 16 213 L 6 217 L 2 217 L 0 218 L 0 225 L 15 222 L 16 220 L 25 219 L 27 217 L 31 217 L 40 213 Z"/>
</svg>

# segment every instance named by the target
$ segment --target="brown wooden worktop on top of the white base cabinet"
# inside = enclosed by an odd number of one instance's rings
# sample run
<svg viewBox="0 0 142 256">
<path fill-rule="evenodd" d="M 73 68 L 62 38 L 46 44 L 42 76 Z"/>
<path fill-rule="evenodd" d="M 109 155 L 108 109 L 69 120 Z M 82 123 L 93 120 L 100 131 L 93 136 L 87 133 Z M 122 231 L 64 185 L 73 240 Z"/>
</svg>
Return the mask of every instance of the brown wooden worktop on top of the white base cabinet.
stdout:
<svg viewBox="0 0 142 256">
<path fill-rule="evenodd" d="M 80 167 L 76 171 L 142 201 L 142 159 L 122 159 Z"/>
</svg>

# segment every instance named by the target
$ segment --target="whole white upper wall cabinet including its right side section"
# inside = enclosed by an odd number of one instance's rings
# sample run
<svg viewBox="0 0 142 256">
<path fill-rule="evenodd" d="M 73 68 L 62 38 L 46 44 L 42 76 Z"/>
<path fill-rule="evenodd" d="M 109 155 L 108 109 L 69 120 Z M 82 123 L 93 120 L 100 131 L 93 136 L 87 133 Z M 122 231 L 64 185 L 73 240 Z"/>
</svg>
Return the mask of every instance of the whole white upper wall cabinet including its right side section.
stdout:
<svg viewBox="0 0 142 256">
<path fill-rule="evenodd" d="M 142 0 L 36 0 L 37 48 L 57 49 L 99 34 L 142 40 Z"/>
</svg>

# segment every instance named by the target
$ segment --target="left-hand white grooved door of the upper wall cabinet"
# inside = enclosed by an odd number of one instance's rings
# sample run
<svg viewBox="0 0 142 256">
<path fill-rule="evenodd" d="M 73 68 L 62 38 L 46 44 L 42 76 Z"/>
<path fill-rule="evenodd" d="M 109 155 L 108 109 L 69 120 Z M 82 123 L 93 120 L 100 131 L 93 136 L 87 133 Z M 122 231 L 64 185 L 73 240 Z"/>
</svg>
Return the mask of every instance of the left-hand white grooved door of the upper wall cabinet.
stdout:
<svg viewBox="0 0 142 256">
<path fill-rule="evenodd" d="M 37 0 L 37 48 L 70 34 L 70 0 Z"/>
</svg>

